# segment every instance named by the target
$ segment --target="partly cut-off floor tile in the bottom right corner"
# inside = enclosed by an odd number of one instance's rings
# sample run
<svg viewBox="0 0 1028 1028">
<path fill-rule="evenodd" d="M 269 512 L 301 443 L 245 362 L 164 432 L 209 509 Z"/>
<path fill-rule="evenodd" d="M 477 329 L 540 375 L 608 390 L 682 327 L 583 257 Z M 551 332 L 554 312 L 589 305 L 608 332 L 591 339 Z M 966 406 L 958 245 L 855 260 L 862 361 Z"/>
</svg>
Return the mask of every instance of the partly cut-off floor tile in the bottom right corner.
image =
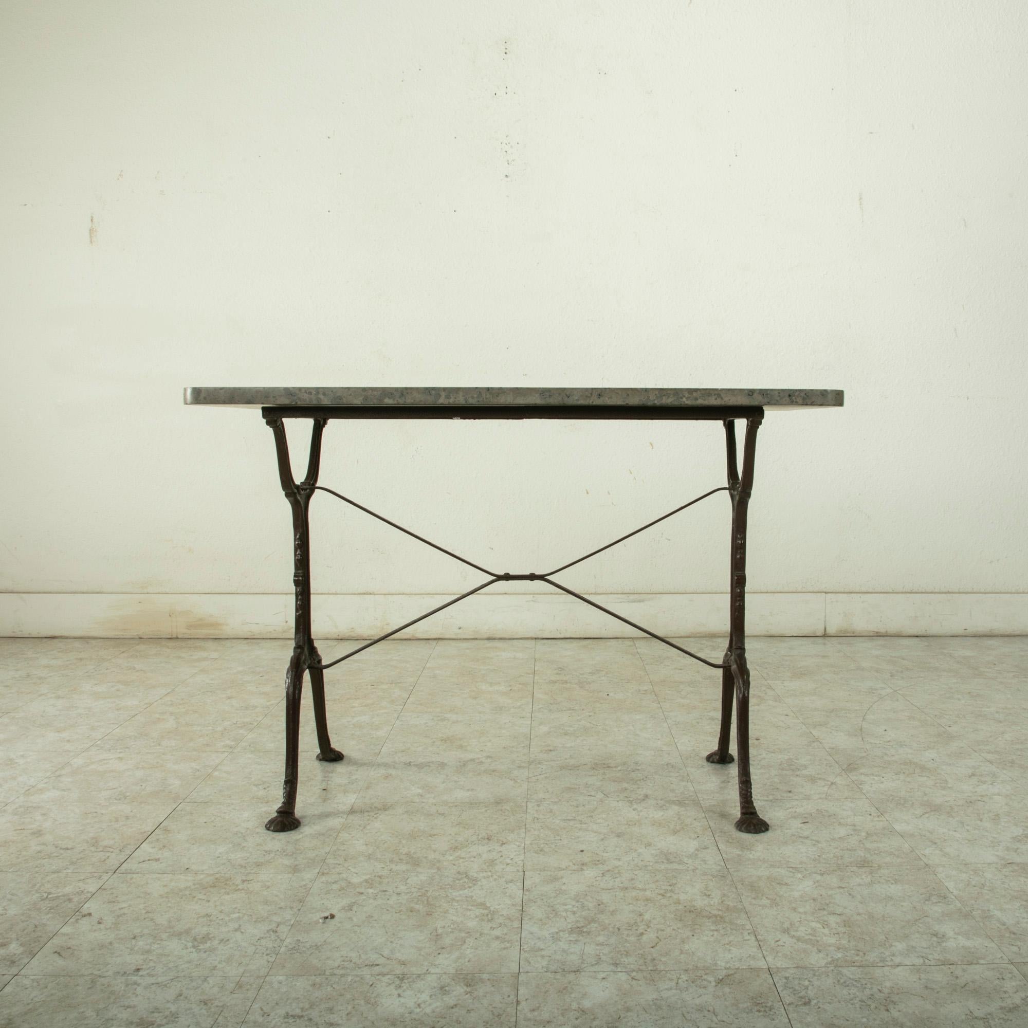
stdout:
<svg viewBox="0 0 1028 1028">
<path fill-rule="evenodd" d="M 775 970 L 793 1028 L 1021 1028 L 1028 982 L 1009 964 Z"/>
</svg>

